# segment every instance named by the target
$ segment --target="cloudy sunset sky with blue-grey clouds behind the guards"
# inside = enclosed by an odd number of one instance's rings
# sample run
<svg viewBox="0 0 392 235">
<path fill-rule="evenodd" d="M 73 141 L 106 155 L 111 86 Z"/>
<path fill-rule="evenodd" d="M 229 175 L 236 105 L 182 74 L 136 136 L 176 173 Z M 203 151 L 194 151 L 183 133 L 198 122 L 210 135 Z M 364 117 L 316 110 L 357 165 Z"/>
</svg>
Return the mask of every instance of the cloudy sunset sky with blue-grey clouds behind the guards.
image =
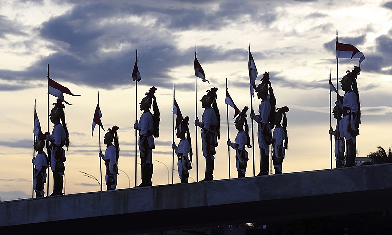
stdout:
<svg viewBox="0 0 392 235">
<path fill-rule="evenodd" d="M 358 77 L 362 107 L 359 157 L 366 157 L 378 145 L 388 148 L 392 143 L 387 131 L 392 127 L 391 18 L 392 1 L 385 0 L 0 0 L 1 200 L 31 197 L 34 100 L 43 131 L 47 131 L 48 64 L 50 78 L 74 94 L 81 94 L 65 95 L 73 104 L 65 109 L 71 140 L 66 194 L 99 190 L 94 179 L 79 172 L 100 177 L 98 127 L 91 137 L 98 91 L 105 129 L 120 127 L 122 171 L 118 188 L 128 188 L 135 186 L 133 123 L 141 114 L 135 112 L 135 103 L 151 86 L 158 88 L 161 136 L 156 139 L 153 182 L 172 183 L 173 84 L 182 113 L 193 122 L 195 45 L 210 81 L 203 83 L 197 78 L 197 100 L 205 90 L 213 86 L 219 89 L 221 140 L 215 179 L 229 177 L 226 78 L 237 106 L 250 106 L 249 41 L 259 77 L 264 71 L 270 73 L 277 107 L 290 108 L 284 173 L 331 167 L 328 79 L 331 68 L 337 86 L 337 31 L 339 42 L 355 45 L 366 57 Z M 136 50 L 142 76 L 137 101 L 131 79 Z M 340 59 L 338 77 L 357 63 L 358 60 Z M 341 90 L 340 93 L 343 94 Z M 50 104 L 55 100 L 49 97 Z M 257 98 L 253 100 L 254 109 L 258 104 Z M 197 115 L 201 117 L 200 102 L 197 105 Z M 229 116 L 230 137 L 234 140 L 230 107 Z M 190 129 L 196 153 L 196 131 L 192 126 Z M 104 133 L 101 130 L 102 136 Z M 255 162 L 251 156 L 246 176 L 253 176 L 253 165 L 256 174 L 259 172 L 257 140 L 255 145 Z M 252 155 L 252 150 L 249 152 Z M 233 151 L 230 156 L 231 176 L 236 177 Z M 194 159 L 190 182 L 204 177 L 201 150 L 198 175 L 196 154 Z M 137 184 L 139 168 L 138 165 Z M 52 176 L 49 177 L 50 194 Z M 179 183 L 175 171 L 174 183 Z"/>
</svg>

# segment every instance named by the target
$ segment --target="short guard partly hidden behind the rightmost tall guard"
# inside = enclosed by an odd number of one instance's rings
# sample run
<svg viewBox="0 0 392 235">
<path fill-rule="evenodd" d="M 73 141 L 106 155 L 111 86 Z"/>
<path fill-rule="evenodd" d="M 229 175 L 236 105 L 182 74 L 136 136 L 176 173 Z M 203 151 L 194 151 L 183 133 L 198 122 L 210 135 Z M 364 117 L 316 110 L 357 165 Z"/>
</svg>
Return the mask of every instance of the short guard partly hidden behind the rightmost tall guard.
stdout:
<svg viewBox="0 0 392 235">
<path fill-rule="evenodd" d="M 340 96 L 343 98 L 343 96 Z M 342 102 L 343 99 L 340 101 L 335 102 L 335 107 L 332 111 L 334 118 L 336 119 L 336 128 L 335 131 L 332 129 L 329 130 L 329 134 L 334 136 L 335 139 L 335 161 L 336 161 L 336 168 L 340 168 L 344 166 L 344 159 L 345 159 L 345 140 L 344 140 L 344 133 L 343 133 L 343 120 L 342 120 Z"/>
</svg>

